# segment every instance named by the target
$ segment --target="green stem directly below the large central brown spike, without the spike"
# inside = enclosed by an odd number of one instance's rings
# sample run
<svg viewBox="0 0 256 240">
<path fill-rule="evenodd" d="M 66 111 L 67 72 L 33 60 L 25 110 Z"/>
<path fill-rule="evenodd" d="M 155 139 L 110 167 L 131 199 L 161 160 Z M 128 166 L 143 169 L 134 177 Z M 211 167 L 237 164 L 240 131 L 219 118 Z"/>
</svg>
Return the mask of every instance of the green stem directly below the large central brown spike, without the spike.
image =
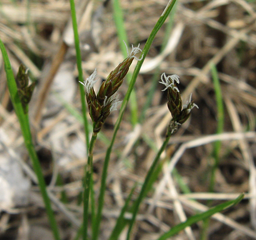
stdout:
<svg viewBox="0 0 256 240">
<path fill-rule="evenodd" d="M 87 228 L 88 228 L 88 209 L 89 209 L 89 196 L 91 189 L 91 177 L 92 177 L 92 158 L 93 149 L 97 139 L 97 133 L 92 133 L 91 142 L 89 144 L 87 165 L 85 166 L 85 177 L 84 177 L 84 216 L 83 216 L 83 240 L 87 239 Z"/>
</svg>

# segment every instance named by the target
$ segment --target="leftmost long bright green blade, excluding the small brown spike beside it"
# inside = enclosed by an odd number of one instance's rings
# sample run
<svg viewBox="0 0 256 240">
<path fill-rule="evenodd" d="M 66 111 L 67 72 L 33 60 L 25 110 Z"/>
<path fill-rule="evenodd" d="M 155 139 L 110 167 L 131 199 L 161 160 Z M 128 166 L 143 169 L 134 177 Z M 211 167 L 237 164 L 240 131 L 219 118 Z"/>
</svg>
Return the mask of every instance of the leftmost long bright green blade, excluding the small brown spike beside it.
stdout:
<svg viewBox="0 0 256 240">
<path fill-rule="evenodd" d="M 32 164 L 38 179 L 38 185 L 44 200 L 45 208 L 46 208 L 46 213 L 49 218 L 50 226 L 52 228 L 53 236 L 55 240 L 60 240 L 60 235 L 57 227 L 57 222 L 55 220 L 52 207 L 51 207 L 51 201 L 48 197 L 47 190 L 46 190 L 46 184 L 44 182 L 44 175 L 42 173 L 40 163 L 38 160 L 38 157 L 36 155 L 36 151 L 34 148 L 34 145 L 32 143 L 32 137 L 31 137 L 31 132 L 30 132 L 30 127 L 29 127 L 29 120 L 28 120 L 28 114 L 25 114 L 22 108 L 22 104 L 20 102 L 20 98 L 18 95 L 18 89 L 17 85 L 15 82 L 15 78 L 12 72 L 12 67 L 10 60 L 8 58 L 6 49 L 4 47 L 3 42 L 0 39 L 0 49 L 2 51 L 3 59 L 4 59 L 4 68 L 7 76 L 7 84 L 8 84 L 8 89 L 10 92 L 10 97 L 12 100 L 12 104 L 14 107 L 14 110 L 16 112 L 16 115 L 19 119 L 20 122 L 20 129 L 24 138 L 25 146 L 28 150 L 29 157 L 32 160 Z"/>
</svg>

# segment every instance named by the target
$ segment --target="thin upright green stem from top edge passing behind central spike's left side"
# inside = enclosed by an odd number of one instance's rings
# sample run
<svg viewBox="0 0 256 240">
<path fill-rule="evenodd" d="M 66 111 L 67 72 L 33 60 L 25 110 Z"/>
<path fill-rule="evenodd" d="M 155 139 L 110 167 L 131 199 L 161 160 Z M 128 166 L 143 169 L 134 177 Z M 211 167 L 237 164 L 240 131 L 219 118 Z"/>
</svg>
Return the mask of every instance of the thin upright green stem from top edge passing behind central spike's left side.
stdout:
<svg viewBox="0 0 256 240">
<path fill-rule="evenodd" d="M 80 52 L 80 46 L 79 46 L 79 35 L 78 35 L 78 29 L 77 29 L 76 9 L 75 9 L 74 0 L 70 0 L 70 10 L 71 10 L 71 18 L 72 18 L 73 31 L 74 31 L 75 47 L 76 47 L 76 63 L 77 63 L 77 70 L 78 70 L 78 80 L 83 82 L 82 58 L 81 58 L 81 52 Z M 81 104 L 82 104 L 82 114 L 84 119 L 86 150 L 88 152 L 89 127 L 88 127 L 88 120 L 86 117 L 87 111 L 86 111 L 86 104 L 85 104 L 85 92 L 82 84 L 79 84 L 79 89 L 80 89 Z"/>
</svg>

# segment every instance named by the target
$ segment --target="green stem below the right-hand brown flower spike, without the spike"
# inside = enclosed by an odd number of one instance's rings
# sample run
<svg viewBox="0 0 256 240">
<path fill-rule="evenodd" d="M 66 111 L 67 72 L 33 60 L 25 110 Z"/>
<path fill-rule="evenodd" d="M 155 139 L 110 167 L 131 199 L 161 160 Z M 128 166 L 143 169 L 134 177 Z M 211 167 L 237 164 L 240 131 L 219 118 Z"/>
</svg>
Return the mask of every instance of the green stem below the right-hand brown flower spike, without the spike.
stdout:
<svg viewBox="0 0 256 240">
<path fill-rule="evenodd" d="M 129 226 L 129 229 L 128 229 L 128 232 L 127 232 L 126 240 L 129 240 L 129 238 L 130 238 L 130 235 L 131 235 L 131 232 L 132 232 L 132 227 L 133 227 L 133 224 L 135 222 L 135 218 L 136 218 L 136 215 L 138 213 L 140 203 L 141 203 L 142 199 L 145 197 L 145 193 L 147 192 L 147 189 L 148 189 L 148 184 L 150 182 L 149 180 L 150 180 L 152 174 L 155 171 L 155 168 L 156 168 L 157 163 L 158 163 L 158 161 L 160 159 L 160 156 L 161 156 L 162 152 L 164 151 L 164 149 L 166 148 L 166 146 L 167 146 L 167 144 L 169 142 L 169 139 L 170 139 L 170 136 L 165 138 L 164 143 L 162 144 L 161 148 L 157 152 L 157 154 L 155 156 L 155 159 L 153 160 L 152 165 L 150 166 L 148 174 L 147 174 L 147 176 L 145 178 L 145 181 L 144 181 L 144 183 L 143 183 L 143 185 L 141 187 L 140 194 L 139 194 L 139 196 L 138 196 L 138 198 L 136 200 L 136 203 L 135 203 L 135 208 L 133 209 L 132 220 L 130 222 L 130 226 Z"/>
</svg>

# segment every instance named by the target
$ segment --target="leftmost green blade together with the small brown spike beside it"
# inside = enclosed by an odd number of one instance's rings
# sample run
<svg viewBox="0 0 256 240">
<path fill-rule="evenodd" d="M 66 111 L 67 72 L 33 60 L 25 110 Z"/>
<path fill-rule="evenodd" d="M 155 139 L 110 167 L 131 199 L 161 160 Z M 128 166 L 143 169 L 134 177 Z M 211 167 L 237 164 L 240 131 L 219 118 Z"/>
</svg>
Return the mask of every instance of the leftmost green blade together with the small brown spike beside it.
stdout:
<svg viewBox="0 0 256 240">
<path fill-rule="evenodd" d="M 46 213 L 52 228 L 52 233 L 55 240 L 60 240 L 59 230 L 57 222 L 54 217 L 54 213 L 51 207 L 51 201 L 47 193 L 46 184 L 44 182 L 44 175 L 40 167 L 39 159 L 36 154 L 36 150 L 32 141 L 29 120 L 28 120 L 28 103 L 31 99 L 35 83 L 28 85 L 28 73 L 24 65 L 20 65 L 16 81 L 12 72 L 11 63 L 7 55 L 4 43 L 0 39 L 0 49 L 3 55 L 4 68 L 7 77 L 7 85 L 10 92 L 10 98 L 12 105 L 20 122 L 20 129 L 24 138 L 25 146 L 28 150 L 30 159 L 34 167 L 34 171 L 37 176 L 38 185 L 44 200 Z"/>
</svg>

